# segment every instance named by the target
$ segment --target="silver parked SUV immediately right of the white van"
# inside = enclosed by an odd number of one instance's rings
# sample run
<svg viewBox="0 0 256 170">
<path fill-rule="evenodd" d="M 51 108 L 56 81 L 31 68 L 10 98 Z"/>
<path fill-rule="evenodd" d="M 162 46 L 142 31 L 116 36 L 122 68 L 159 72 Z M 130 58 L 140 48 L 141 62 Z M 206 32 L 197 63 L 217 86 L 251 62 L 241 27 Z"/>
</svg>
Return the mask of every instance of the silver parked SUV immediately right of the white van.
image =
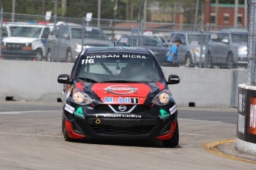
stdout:
<svg viewBox="0 0 256 170">
<path fill-rule="evenodd" d="M 82 45 L 83 44 L 83 45 Z M 83 48 L 111 47 L 114 43 L 99 27 L 58 22 L 47 43 L 47 61 L 75 61 Z"/>
</svg>

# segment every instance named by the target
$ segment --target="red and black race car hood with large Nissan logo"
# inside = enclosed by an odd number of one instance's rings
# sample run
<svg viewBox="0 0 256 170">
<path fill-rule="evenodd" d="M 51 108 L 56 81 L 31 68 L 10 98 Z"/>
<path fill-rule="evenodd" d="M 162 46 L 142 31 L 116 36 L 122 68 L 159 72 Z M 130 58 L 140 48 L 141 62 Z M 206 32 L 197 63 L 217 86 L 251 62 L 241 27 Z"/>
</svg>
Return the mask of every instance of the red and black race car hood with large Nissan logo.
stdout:
<svg viewBox="0 0 256 170">
<path fill-rule="evenodd" d="M 109 104 L 143 104 L 146 98 L 154 97 L 165 87 L 160 82 L 151 84 L 88 84 L 79 82 L 76 84 L 77 89 L 88 92 L 91 96 L 94 95 L 94 98 L 100 99 L 102 103 Z"/>
</svg>

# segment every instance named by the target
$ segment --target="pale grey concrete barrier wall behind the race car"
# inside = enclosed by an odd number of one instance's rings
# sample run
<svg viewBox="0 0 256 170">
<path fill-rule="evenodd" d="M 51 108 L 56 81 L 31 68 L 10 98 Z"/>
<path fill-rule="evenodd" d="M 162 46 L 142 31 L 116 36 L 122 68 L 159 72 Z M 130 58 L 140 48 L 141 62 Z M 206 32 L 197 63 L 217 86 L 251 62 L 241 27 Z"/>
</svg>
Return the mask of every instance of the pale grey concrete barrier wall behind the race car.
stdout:
<svg viewBox="0 0 256 170">
<path fill-rule="evenodd" d="M 56 101 L 63 85 L 59 74 L 71 72 L 73 63 L 0 60 L 0 101 Z M 180 76 L 180 84 L 169 85 L 177 106 L 237 107 L 237 86 L 246 83 L 246 69 L 199 69 L 162 67 L 165 78 Z"/>
</svg>

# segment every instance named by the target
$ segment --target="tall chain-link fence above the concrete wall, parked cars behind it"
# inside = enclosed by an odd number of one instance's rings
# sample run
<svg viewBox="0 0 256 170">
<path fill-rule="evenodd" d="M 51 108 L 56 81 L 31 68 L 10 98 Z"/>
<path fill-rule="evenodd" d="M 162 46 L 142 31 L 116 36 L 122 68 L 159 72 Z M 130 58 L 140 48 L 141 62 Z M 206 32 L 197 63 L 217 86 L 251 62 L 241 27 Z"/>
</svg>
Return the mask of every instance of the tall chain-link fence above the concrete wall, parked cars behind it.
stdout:
<svg viewBox="0 0 256 170">
<path fill-rule="evenodd" d="M 180 67 L 247 67 L 247 4 L 238 2 L 2 0 L 0 54 L 73 62 L 82 48 L 147 47 L 169 66 L 180 38 Z"/>
</svg>

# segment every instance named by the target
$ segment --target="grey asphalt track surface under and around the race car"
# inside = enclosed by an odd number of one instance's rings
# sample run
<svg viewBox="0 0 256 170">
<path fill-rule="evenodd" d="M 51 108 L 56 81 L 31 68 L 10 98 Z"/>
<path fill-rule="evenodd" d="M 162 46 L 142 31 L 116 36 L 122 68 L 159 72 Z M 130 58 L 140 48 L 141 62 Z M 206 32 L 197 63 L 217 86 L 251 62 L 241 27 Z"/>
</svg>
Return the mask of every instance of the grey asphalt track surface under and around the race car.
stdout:
<svg viewBox="0 0 256 170">
<path fill-rule="evenodd" d="M 236 109 L 179 108 L 180 144 L 65 142 L 61 103 L 0 102 L 0 169 L 255 169 L 234 149 Z"/>
</svg>

